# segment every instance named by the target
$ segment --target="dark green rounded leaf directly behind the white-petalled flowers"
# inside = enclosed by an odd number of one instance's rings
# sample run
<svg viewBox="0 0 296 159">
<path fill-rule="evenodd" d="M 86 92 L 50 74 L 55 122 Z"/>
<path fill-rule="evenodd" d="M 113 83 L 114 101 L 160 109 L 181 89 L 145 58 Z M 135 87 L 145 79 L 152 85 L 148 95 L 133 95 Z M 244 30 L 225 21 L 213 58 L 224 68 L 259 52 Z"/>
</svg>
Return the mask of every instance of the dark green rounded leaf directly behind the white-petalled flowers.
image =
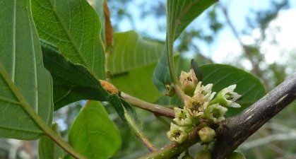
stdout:
<svg viewBox="0 0 296 159">
<path fill-rule="evenodd" d="M 235 92 L 242 95 L 238 101 L 242 107 L 229 107 L 227 117 L 238 114 L 266 94 L 264 85 L 259 78 L 242 69 L 225 64 L 206 64 L 199 67 L 203 73 L 203 85 L 213 83 L 213 91 L 219 92 L 232 84 L 237 84 Z"/>
</svg>

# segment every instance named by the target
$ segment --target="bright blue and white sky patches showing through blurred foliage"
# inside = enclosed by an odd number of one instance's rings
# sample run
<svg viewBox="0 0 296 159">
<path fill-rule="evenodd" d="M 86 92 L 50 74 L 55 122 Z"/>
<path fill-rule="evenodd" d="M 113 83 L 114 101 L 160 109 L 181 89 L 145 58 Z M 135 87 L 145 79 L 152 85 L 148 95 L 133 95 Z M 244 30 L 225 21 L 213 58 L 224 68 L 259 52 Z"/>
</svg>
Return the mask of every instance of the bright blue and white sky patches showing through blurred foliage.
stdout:
<svg viewBox="0 0 296 159">
<path fill-rule="evenodd" d="M 158 0 L 160 1 L 160 0 Z M 279 0 L 277 0 L 279 1 Z M 144 33 L 150 35 L 151 37 L 159 40 L 165 40 L 165 32 L 160 33 L 157 26 L 155 25 L 155 18 L 153 16 L 148 16 L 146 19 L 142 19 L 140 16 L 141 10 L 146 9 L 146 6 L 140 6 L 143 1 L 136 0 L 128 6 L 129 11 L 131 11 L 131 16 L 135 19 L 134 28 L 130 24 L 129 20 L 123 20 L 120 25 L 120 31 L 127 31 L 135 29 L 138 33 Z M 156 3 L 155 1 L 146 1 L 146 3 Z M 271 0 L 220 0 L 219 3 L 222 3 L 224 6 L 227 6 L 228 13 L 230 15 L 230 20 L 234 23 L 237 30 L 242 30 L 245 28 L 246 17 L 250 15 L 251 10 L 261 10 L 268 8 L 270 6 Z M 293 18 L 294 17 L 294 18 Z M 223 16 L 218 16 L 222 21 Z M 274 26 L 279 25 L 282 29 L 281 33 L 277 36 L 280 38 L 280 41 L 283 41 L 282 47 L 294 47 L 293 42 L 296 42 L 296 22 L 291 19 L 296 19 L 296 1 L 290 0 L 290 9 L 288 11 L 283 11 L 278 17 L 279 20 L 276 20 L 273 24 Z M 203 25 L 204 20 L 206 20 L 205 14 L 196 18 L 189 28 L 200 27 Z M 278 22 L 277 22 L 278 21 Z M 158 23 L 162 22 L 165 25 L 165 19 L 158 20 Z M 256 36 L 256 30 L 252 33 L 253 36 Z M 241 35 L 241 38 L 246 44 L 251 42 L 251 37 L 246 37 Z M 218 39 L 213 42 L 212 45 L 208 45 L 201 41 L 194 41 L 194 45 L 198 45 L 199 48 L 203 50 L 203 54 L 207 57 L 211 57 L 215 62 L 224 63 L 227 62 L 227 59 L 231 61 L 230 58 L 227 58 L 229 54 L 234 54 L 239 56 L 239 52 L 242 52 L 242 48 L 239 46 L 237 40 L 233 36 L 232 32 L 228 27 L 223 28 L 219 33 Z M 273 48 L 266 44 L 263 52 L 266 53 L 266 59 L 270 63 L 275 61 L 280 54 L 278 49 L 283 48 Z M 292 49 L 292 48 L 289 48 Z M 225 60 L 226 59 L 226 60 Z M 243 64 L 245 67 L 248 67 L 248 64 Z"/>
</svg>

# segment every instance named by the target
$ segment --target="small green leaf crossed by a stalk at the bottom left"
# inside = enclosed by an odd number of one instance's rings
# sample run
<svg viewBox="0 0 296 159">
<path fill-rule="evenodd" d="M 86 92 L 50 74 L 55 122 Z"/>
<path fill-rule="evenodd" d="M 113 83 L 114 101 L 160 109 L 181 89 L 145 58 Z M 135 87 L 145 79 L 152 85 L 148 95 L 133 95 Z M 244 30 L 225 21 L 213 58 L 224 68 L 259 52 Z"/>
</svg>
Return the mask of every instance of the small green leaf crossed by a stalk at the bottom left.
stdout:
<svg viewBox="0 0 296 159">
<path fill-rule="evenodd" d="M 59 133 L 57 124 L 53 124 L 52 129 Z M 47 136 L 42 136 L 42 138 L 40 138 L 38 143 L 38 153 L 38 158 L 41 159 L 63 158 L 65 155 L 63 149 L 57 146 L 57 144 Z"/>
</svg>

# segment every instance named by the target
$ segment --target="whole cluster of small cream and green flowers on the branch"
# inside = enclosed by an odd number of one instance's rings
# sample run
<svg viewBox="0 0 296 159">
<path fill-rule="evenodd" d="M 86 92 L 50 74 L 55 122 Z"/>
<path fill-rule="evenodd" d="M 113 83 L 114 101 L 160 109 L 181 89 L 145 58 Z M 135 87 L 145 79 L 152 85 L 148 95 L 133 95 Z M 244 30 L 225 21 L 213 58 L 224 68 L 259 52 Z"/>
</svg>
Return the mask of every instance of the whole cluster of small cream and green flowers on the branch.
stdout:
<svg viewBox="0 0 296 159">
<path fill-rule="evenodd" d="M 227 112 L 227 107 L 241 107 L 235 102 L 241 97 L 234 92 L 236 85 L 224 88 L 219 93 L 212 92 L 213 84 L 203 86 L 201 81 L 196 78 L 193 69 L 189 73 L 182 71 L 179 81 L 186 97 L 183 109 L 174 107 L 174 123 L 171 123 L 170 131 L 167 132 L 171 141 L 182 143 L 201 119 L 207 119 L 213 123 L 221 122 L 225 120 L 224 115 Z M 215 136 L 215 134 L 212 133 L 211 136 Z M 208 141 L 210 140 L 206 139 L 203 142 Z"/>
</svg>

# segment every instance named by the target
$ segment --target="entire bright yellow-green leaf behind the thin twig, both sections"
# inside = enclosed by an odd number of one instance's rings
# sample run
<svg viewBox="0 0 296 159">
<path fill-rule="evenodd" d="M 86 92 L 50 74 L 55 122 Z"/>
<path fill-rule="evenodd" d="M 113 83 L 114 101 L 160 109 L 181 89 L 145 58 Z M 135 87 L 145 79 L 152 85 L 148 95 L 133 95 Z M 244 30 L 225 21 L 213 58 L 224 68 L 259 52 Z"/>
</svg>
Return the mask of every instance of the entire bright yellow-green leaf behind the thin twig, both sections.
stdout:
<svg viewBox="0 0 296 159">
<path fill-rule="evenodd" d="M 108 69 L 115 74 L 111 78 L 114 86 L 136 98 L 155 102 L 160 93 L 151 76 L 163 48 L 162 42 L 143 39 L 134 31 L 115 33 L 114 49 L 108 60 Z"/>
</svg>

